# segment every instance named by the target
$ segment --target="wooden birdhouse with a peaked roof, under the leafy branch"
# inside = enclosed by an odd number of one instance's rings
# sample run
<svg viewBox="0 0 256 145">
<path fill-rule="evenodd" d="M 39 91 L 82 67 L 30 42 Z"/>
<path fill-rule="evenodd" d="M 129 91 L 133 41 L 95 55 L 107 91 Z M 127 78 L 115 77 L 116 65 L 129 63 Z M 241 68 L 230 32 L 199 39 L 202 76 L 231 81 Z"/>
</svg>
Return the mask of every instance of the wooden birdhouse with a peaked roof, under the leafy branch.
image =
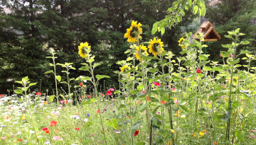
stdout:
<svg viewBox="0 0 256 145">
<path fill-rule="evenodd" d="M 193 39 L 199 40 L 196 35 L 198 33 L 203 33 L 204 42 L 206 41 L 218 41 L 221 39 L 220 35 L 216 32 L 216 30 L 213 27 L 213 24 L 211 24 L 209 21 L 204 21 L 200 28 L 196 31 L 196 33 L 192 36 Z"/>
</svg>

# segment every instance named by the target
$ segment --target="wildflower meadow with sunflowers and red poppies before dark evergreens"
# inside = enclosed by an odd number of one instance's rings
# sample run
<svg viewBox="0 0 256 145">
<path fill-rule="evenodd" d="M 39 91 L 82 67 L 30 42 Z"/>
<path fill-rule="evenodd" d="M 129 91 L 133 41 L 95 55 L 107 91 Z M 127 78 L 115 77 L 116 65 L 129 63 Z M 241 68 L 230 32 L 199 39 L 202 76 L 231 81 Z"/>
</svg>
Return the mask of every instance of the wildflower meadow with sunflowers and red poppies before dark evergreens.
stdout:
<svg viewBox="0 0 256 145">
<path fill-rule="evenodd" d="M 132 21 L 123 35 L 128 57 L 113 72 L 119 86 L 107 91 L 99 82 L 110 76 L 95 74 L 101 64 L 90 43 L 77 48 L 80 68 L 56 63 L 51 49 L 45 74 L 54 76 L 53 93 L 33 91 L 38 83 L 23 76 L 14 92 L 0 95 L 0 144 L 256 144 L 255 55 L 237 50 L 250 44 L 240 39 L 246 34 L 240 28 L 226 32 L 230 42 L 219 44 L 220 62 L 213 62 L 203 52 L 208 45 L 202 33 L 198 40 L 192 33 L 176 40 L 182 54 L 176 57 L 161 37 L 143 42 L 142 25 Z M 240 69 L 241 56 L 247 69 Z M 70 76 L 75 69 L 90 75 Z"/>
</svg>

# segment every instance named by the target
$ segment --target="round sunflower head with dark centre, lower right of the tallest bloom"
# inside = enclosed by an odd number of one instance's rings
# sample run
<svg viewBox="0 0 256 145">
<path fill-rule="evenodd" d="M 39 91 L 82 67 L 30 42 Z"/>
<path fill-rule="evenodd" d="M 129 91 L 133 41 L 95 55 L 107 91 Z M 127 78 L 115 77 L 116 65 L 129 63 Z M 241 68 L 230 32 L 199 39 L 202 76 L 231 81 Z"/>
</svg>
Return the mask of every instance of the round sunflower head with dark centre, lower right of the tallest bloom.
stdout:
<svg viewBox="0 0 256 145">
<path fill-rule="evenodd" d="M 161 42 L 161 39 L 156 39 L 156 37 L 154 37 L 154 40 L 150 40 L 149 43 L 149 52 L 154 54 L 154 56 L 156 56 L 156 54 L 159 54 L 159 52 L 163 52 L 164 45 L 163 42 Z"/>
</svg>

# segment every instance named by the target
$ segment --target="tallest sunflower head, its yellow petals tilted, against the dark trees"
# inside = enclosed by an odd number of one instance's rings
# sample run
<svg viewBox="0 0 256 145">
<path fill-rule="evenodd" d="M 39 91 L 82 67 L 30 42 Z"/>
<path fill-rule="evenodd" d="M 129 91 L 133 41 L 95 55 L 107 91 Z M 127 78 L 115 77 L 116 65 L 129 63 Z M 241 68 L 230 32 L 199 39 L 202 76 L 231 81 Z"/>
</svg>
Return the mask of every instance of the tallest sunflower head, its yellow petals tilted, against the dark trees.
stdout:
<svg viewBox="0 0 256 145">
<path fill-rule="evenodd" d="M 137 24 L 137 21 L 132 21 L 132 26 L 127 29 L 127 33 L 124 34 L 124 37 L 128 37 L 127 42 L 137 42 L 139 37 L 142 37 L 142 26 L 141 23 Z"/>
</svg>

